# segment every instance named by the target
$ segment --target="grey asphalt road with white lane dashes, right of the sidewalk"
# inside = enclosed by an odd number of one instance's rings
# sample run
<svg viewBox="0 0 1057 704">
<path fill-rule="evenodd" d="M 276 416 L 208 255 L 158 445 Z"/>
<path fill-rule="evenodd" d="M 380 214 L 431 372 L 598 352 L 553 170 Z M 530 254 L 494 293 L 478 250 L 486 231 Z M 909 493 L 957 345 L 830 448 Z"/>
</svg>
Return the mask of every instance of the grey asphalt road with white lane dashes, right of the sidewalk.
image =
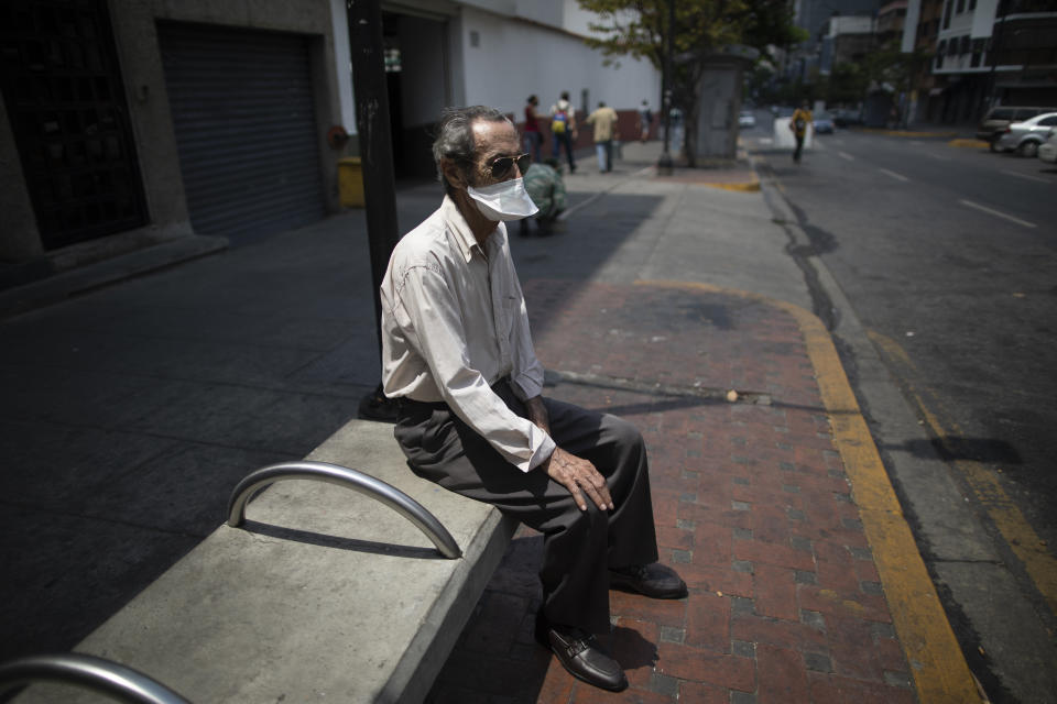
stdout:
<svg viewBox="0 0 1057 704">
<path fill-rule="evenodd" d="M 770 134 L 764 118 L 743 136 L 928 429 L 934 447 L 918 450 L 938 452 L 994 541 L 988 561 L 1012 574 L 1021 618 L 1037 616 L 1025 628 L 1053 647 L 1057 167 L 950 135 L 842 130 L 818 135 L 795 166 Z M 839 311 L 818 312 L 839 328 Z M 854 376 L 854 352 L 844 353 Z M 919 542 L 928 560 L 928 537 Z M 988 598 L 987 617 L 1001 618 L 1002 595 Z M 948 601 L 949 613 L 961 609 Z M 1015 652 L 988 642 L 982 617 L 965 610 L 966 623 L 955 619 L 963 648 Z M 1009 681 L 1001 657 L 978 648 Z M 994 684 L 995 701 L 1050 701 Z"/>
</svg>

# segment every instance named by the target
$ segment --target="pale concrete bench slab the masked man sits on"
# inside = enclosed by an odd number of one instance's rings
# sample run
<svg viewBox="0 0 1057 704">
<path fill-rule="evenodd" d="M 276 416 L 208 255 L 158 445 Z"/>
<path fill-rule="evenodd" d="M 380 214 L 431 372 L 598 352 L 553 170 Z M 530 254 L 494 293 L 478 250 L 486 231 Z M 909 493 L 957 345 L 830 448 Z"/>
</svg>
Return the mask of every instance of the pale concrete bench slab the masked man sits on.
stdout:
<svg viewBox="0 0 1057 704">
<path fill-rule="evenodd" d="M 76 648 L 197 704 L 418 702 L 511 540 L 498 510 L 416 477 L 392 426 L 353 420 L 306 460 L 367 472 L 447 528 L 450 560 L 401 514 L 288 480 L 218 528 Z M 34 685 L 17 702 L 98 702 Z"/>
</svg>

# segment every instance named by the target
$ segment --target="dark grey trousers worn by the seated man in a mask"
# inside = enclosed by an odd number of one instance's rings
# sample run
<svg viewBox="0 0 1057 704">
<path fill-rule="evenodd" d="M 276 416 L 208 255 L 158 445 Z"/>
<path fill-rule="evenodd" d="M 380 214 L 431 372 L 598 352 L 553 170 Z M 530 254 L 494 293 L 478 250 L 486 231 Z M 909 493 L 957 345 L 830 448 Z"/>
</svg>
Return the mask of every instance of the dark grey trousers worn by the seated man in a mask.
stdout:
<svg viewBox="0 0 1057 704">
<path fill-rule="evenodd" d="M 495 393 L 519 416 L 510 385 Z M 551 437 L 607 479 L 615 508 L 581 512 L 565 486 L 536 468 L 522 472 L 444 404 L 401 404 L 394 435 L 418 476 L 497 506 L 544 535 L 543 614 L 551 623 L 609 631 L 609 569 L 657 560 L 650 476 L 642 436 L 615 416 L 544 399 Z"/>
</svg>

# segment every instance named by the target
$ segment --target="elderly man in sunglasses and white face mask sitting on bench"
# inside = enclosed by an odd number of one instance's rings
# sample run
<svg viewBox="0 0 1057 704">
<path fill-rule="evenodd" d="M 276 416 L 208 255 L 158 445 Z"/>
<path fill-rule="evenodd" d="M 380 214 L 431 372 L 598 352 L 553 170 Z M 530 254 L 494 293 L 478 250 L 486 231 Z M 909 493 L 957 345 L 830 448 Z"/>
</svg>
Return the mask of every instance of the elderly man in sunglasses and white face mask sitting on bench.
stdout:
<svg viewBox="0 0 1057 704">
<path fill-rule="evenodd" d="M 536 637 L 575 676 L 619 691 L 623 670 L 595 638 L 609 632 L 609 590 L 687 590 L 656 563 L 639 431 L 541 395 L 505 226 L 536 211 L 519 147 L 495 109 L 442 114 L 444 200 L 397 243 L 381 286 L 382 383 L 412 471 L 544 534 Z"/>
</svg>

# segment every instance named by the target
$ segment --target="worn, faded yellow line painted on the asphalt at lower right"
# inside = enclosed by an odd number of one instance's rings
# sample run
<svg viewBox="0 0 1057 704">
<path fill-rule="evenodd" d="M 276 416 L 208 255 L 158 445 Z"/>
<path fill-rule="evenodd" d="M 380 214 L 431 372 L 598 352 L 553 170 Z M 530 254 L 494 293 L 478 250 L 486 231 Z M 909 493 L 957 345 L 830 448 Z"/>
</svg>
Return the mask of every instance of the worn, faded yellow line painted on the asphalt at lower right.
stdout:
<svg viewBox="0 0 1057 704">
<path fill-rule="evenodd" d="M 911 369 L 914 367 L 909 356 L 895 340 L 873 330 L 869 331 L 868 334 L 890 358 Z M 957 458 L 957 451 L 956 448 L 951 447 L 950 438 L 962 437 L 965 435 L 962 429 L 952 420 L 948 421 L 949 430 L 945 428 L 936 414 L 931 413 L 925 405 L 913 385 L 911 385 L 909 391 L 922 418 L 931 429 L 933 435 L 944 443 L 951 457 Z M 991 517 L 995 528 L 1009 543 L 1013 554 L 1024 564 L 1024 569 L 1035 584 L 1035 588 L 1046 600 L 1050 610 L 1057 614 L 1057 560 L 1050 554 L 1049 548 L 1002 488 L 999 477 L 990 468 L 980 462 L 965 459 L 955 459 L 952 464 L 966 477 L 977 499 L 987 509 L 988 516 Z"/>
</svg>

